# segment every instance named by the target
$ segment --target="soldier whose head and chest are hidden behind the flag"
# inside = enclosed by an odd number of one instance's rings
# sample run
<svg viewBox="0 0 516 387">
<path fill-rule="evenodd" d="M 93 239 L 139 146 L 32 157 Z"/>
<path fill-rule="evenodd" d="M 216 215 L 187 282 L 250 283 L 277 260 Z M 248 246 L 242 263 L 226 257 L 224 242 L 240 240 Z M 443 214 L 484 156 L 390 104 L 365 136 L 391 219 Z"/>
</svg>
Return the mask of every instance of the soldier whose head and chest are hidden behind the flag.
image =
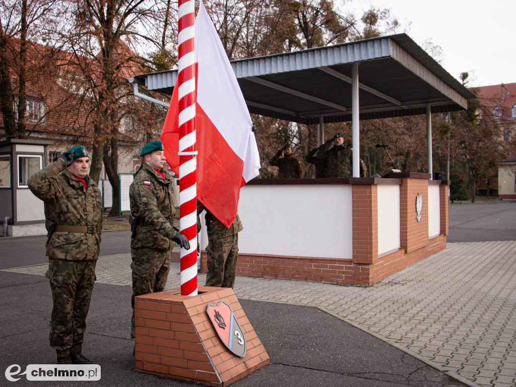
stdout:
<svg viewBox="0 0 516 387">
<path fill-rule="evenodd" d="M 244 230 L 238 214 L 229 228 L 218 220 L 206 207 L 197 201 L 197 232 L 201 230 L 199 215 L 206 210 L 205 220 L 208 233 L 206 246 L 208 272 L 206 286 L 235 286 L 238 261 L 238 233 Z"/>
</svg>

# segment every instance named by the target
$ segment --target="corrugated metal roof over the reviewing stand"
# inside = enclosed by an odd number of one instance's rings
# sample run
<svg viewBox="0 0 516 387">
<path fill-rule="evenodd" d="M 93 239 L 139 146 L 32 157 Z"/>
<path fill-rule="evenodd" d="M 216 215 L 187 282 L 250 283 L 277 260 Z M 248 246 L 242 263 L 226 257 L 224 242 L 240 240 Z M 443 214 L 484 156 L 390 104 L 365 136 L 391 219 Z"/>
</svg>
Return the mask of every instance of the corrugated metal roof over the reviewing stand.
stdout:
<svg viewBox="0 0 516 387">
<path fill-rule="evenodd" d="M 234 60 L 249 111 L 313 124 L 351 120 L 351 64 L 359 62 L 360 119 L 459 110 L 475 95 L 406 34 Z M 177 70 L 133 82 L 171 94 Z"/>
</svg>

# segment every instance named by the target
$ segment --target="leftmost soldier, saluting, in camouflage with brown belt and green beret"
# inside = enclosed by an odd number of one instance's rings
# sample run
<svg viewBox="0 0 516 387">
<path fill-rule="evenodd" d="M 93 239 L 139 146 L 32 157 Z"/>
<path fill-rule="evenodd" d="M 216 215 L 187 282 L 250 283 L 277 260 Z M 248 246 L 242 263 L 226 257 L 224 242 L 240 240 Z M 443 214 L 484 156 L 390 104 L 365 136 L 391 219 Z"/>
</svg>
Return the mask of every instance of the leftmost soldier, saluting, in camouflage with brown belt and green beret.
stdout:
<svg viewBox="0 0 516 387">
<path fill-rule="evenodd" d="M 44 202 L 46 255 L 54 307 L 50 346 L 57 364 L 92 364 L 81 352 L 102 231 L 102 195 L 89 178 L 90 158 L 77 146 L 28 181 Z"/>
</svg>

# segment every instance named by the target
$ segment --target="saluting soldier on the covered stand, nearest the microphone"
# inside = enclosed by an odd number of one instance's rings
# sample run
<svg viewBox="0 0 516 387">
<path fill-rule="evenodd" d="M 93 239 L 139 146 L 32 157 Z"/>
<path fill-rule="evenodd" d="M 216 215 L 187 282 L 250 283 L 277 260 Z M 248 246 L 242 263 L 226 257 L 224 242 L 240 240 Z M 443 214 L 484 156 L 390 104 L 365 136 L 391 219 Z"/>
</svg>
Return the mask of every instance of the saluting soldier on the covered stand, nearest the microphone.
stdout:
<svg viewBox="0 0 516 387">
<path fill-rule="evenodd" d="M 332 142 L 333 147 L 329 149 Z M 353 175 L 353 148 L 344 145 L 342 133 L 322 144 L 317 155 L 326 161 L 327 178 L 351 178 Z M 360 160 L 360 176 L 365 177 L 366 173 L 365 164 Z"/>
</svg>

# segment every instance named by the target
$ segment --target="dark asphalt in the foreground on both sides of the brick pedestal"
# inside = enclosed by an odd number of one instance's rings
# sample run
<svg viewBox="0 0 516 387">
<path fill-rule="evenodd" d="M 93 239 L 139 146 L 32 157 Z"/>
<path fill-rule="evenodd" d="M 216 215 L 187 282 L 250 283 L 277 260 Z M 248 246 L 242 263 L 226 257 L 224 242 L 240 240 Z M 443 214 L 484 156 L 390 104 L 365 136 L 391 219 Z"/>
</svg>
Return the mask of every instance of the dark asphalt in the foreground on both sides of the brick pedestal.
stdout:
<svg viewBox="0 0 516 387">
<path fill-rule="evenodd" d="M 2 319 L 0 369 L 12 364 L 53 364 L 48 346 L 52 308 L 48 281 L 42 276 L 0 271 Z M 95 284 L 83 353 L 101 365 L 96 382 L 36 382 L 24 376 L 13 386 L 186 386 L 188 382 L 133 372 L 129 336 L 129 286 Z M 120 302 L 124 300 L 125 302 Z M 275 302 L 239 300 L 270 364 L 237 386 L 463 386 L 379 338 L 317 308 Z"/>
</svg>

